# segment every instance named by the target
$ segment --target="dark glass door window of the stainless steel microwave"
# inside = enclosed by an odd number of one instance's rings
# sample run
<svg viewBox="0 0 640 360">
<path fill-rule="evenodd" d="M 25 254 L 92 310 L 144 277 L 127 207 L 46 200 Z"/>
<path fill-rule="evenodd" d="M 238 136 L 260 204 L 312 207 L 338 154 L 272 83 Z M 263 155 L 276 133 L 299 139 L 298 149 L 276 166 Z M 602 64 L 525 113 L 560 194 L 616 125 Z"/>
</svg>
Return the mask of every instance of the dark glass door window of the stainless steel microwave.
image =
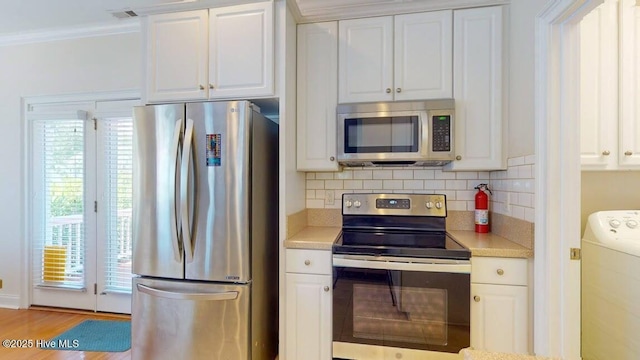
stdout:
<svg viewBox="0 0 640 360">
<path fill-rule="evenodd" d="M 418 116 L 351 118 L 344 121 L 345 153 L 418 152 Z"/>
</svg>

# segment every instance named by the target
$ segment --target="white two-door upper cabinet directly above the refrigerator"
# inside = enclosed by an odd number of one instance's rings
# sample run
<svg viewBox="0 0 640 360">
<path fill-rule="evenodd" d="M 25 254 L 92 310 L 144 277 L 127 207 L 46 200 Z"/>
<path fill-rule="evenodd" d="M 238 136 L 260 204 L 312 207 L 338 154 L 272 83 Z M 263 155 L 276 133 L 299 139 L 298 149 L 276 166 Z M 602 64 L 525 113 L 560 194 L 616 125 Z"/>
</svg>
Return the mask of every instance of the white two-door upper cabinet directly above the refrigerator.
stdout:
<svg viewBox="0 0 640 360">
<path fill-rule="evenodd" d="M 150 15 L 147 102 L 274 93 L 272 2 Z"/>
</svg>

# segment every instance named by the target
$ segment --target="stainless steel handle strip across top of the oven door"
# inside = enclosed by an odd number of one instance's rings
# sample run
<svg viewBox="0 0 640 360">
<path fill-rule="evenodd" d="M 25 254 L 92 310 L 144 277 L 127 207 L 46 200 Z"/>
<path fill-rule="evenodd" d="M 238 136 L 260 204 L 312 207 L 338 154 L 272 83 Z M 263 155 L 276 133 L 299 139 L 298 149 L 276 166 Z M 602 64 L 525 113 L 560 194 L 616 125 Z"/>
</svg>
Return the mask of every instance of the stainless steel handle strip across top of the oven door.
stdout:
<svg viewBox="0 0 640 360">
<path fill-rule="evenodd" d="M 378 257 L 375 260 L 349 259 L 344 257 L 333 257 L 333 266 L 360 269 L 380 269 L 380 270 L 401 270 L 401 271 L 423 271 L 471 274 L 471 262 L 453 260 L 451 262 L 399 262 L 391 261 L 389 258 Z"/>
</svg>

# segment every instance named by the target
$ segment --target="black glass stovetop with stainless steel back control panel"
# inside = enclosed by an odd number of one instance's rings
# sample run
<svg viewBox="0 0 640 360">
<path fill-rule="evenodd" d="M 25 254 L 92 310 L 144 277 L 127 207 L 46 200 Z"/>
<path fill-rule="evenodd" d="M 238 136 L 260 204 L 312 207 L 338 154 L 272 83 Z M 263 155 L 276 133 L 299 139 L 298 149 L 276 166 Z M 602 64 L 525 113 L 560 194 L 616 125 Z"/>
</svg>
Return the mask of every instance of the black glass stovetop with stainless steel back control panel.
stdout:
<svg viewBox="0 0 640 360">
<path fill-rule="evenodd" d="M 445 231 L 446 197 L 438 194 L 344 194 L 334 254 L 469 259 Z"/>
</svg>

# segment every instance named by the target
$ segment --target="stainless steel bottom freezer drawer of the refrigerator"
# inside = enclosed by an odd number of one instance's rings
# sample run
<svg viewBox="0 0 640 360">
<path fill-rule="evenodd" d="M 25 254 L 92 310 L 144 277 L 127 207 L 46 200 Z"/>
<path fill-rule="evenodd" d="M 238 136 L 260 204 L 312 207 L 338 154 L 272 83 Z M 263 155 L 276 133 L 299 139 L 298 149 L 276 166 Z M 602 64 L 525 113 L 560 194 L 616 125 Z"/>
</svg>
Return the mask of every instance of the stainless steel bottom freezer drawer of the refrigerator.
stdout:
<svg viewBox="0 0 640 360">
<path fill-rule="evenodd" d="M 132 359 L 249 359 L 250 290 L 134 278 Z"/>
</svg>

